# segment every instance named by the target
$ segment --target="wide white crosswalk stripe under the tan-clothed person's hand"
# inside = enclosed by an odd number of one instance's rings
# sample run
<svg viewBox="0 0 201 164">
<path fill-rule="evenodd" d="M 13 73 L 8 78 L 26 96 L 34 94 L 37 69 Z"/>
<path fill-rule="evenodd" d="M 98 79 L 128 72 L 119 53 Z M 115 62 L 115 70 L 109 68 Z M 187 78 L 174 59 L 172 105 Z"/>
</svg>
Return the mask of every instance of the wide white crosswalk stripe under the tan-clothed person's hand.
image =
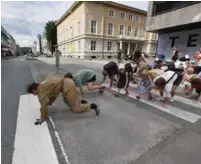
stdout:
<svg viewBox="0 0 201 164">
<path fill-rule="evenodd" d="M 39 109 L 37 97 L 20 96 L 12 164 L 59 164 L 47 123 L 34 125 Z"/>
</svg>

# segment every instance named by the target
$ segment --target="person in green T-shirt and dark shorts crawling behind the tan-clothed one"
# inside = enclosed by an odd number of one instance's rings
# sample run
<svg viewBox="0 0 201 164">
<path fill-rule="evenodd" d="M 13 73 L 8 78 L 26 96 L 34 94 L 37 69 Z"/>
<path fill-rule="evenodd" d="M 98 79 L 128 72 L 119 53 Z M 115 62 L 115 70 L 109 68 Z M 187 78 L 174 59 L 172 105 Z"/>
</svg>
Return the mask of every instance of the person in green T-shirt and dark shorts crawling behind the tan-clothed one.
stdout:
<svg viewBox="0 0 201 164">
<path fill-rule="evenodd" d="M 83 86 L 87 85 L 89 91 L 99 89 L 99 93 L 103 94 L 105 86 L 94 84 L 96 81 L 96 72 L 91 69 L 82 69 L 78 71 L 74 76 L 71 73 L 67 73 L 65 78 L 73 79 L 76 87 L 80 88 L 81 98 L 84 99 Z"/>
</svg>

